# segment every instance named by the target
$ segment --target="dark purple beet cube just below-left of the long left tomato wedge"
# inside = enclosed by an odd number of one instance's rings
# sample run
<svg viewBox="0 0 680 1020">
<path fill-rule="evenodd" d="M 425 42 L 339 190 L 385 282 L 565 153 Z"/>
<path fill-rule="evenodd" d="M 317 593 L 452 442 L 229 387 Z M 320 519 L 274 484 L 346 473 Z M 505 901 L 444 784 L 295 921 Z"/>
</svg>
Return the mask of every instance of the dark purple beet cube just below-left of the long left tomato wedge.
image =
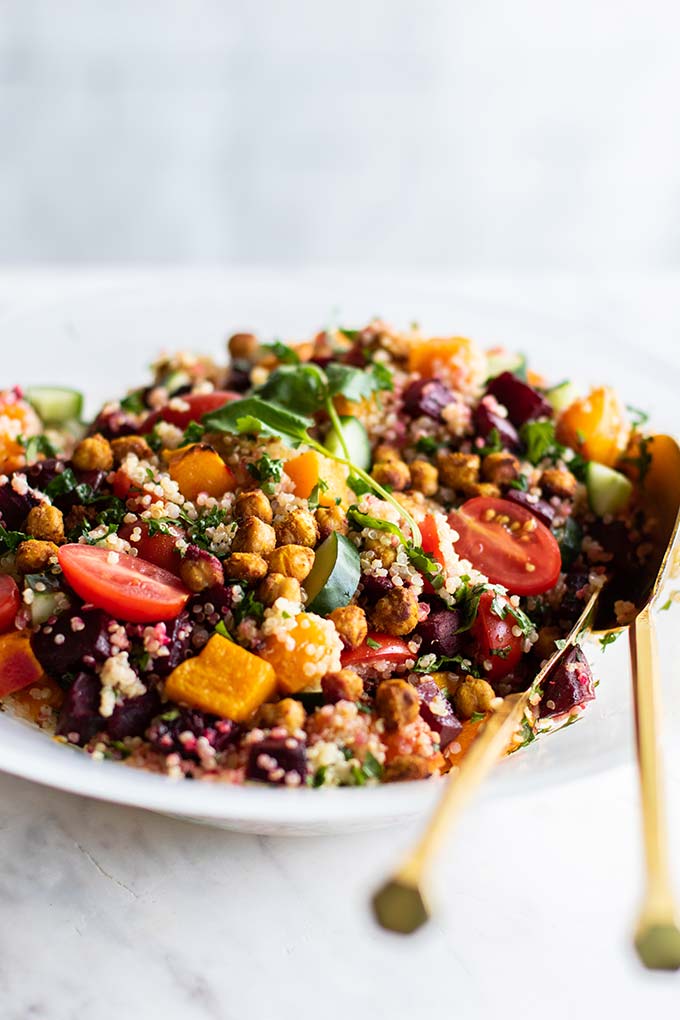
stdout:
<svg viewBox="0 0 680 1020">
<path fill-rule="evenodd" d="M 33 654 L 45 672 L 58 680 L 62 673 L 73 672 L 84 664 L 94 666 L 109 657 L 112 622 L 101 609 L 68 609 L 32 635 Z"/>
</svg>

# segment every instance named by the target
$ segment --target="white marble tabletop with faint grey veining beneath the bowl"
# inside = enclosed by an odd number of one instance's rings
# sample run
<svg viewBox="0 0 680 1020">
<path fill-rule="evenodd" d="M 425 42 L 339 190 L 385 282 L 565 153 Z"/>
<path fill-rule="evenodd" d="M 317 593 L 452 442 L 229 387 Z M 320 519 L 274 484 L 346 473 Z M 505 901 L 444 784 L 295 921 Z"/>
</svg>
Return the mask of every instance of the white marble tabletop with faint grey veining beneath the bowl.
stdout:
<svg viewBox="0 0 680 1020">
<path fill-rule="evenodd" d="M 114 278 L 139 277 L 0 273 L 0 350 L 13 314 Z M 619 342 L 649 345 L 667 371 L 679 285 L 465 282 L 546 315 L 578 309 L 613 357 Z M 668 787 L 680 881 L 677 751 Z M 232 835 L 0 775 L 0 1017 L 677 1014 L 680 975 L 644 973 L 628 940 L 640 875 L 629 765 L 473 808 L 441 860 L 435 919 L 405 940 L 378 931 L 366 903 L 415 830 Z"/>
</svg>

